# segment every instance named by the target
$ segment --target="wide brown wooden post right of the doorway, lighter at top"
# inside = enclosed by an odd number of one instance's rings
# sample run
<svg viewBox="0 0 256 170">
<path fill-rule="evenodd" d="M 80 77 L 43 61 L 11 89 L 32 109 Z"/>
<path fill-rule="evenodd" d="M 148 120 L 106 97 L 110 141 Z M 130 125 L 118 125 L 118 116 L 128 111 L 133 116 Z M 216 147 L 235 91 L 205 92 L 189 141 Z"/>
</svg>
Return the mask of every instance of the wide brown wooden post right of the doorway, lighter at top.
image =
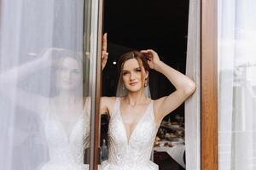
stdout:
<svg viewBox="0 0 256 170">
<path fill-rule="evenodd" d="M 201 0 L 201 170 L 218 170 L 218 0 Z"/>
</svg>

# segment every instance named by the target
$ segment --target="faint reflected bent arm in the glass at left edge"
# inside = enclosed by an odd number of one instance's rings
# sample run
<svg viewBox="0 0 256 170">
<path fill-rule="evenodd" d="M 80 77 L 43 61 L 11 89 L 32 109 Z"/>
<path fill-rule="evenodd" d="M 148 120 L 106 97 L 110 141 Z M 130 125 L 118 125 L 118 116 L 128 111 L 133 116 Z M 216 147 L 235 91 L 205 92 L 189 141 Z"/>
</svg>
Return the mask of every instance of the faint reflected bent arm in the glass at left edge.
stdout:
<svg viewBox="0 0 256 170">
<path fill-rule="evenodd" d="M 24 80 L 27 76 L 35 71 L 50 66 L 53 62 L 51 55 L 56 48 L 49 48 L 44 53 L 38 56 L 38 59 L 26 62 L 8 71 L 0 73 L 0 94 L 9 98 L 16 105 L 38 113 L 42 111 L 47 105 L 48 99 L 38 94 L 28 93 L 25 90 L 18 88 L 16 82 Z M 10 95 L 10 92 L 15 90 L 15 97 Z"/>
</svg>

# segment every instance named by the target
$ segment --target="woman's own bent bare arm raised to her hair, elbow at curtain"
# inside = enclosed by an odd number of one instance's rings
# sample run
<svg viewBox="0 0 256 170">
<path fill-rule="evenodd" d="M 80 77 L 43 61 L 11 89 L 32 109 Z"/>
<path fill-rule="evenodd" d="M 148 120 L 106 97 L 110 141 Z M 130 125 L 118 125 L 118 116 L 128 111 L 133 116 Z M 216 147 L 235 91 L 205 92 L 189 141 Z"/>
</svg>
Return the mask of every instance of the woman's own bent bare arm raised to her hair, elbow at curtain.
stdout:
<svg viewBox="0 0 256 170">
<path fill-rule="evenodd" d="M 174 111 L 179 105 L 182 105 L 194 93 L 195 82 L 162 62 L 154 50 L 148 49 L 141 52 L 147 56 L 149 67 L 165 75 L 176 88 L 172 94 L 156 99 L 154 102 L 155 118 L 160 123 L 164 116 Z"/>
</svg>

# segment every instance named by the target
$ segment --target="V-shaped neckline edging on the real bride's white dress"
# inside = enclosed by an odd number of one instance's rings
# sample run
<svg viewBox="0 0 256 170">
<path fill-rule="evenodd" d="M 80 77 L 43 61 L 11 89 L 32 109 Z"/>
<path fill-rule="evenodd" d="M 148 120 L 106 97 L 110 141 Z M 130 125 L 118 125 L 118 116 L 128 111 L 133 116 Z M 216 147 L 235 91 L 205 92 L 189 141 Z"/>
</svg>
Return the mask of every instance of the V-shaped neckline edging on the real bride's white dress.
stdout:
<svg viewBox="0 0 256 170">
<path fill-rule="evenodd" d="M 139 120 L 137 121 L 136 125 L 135 125 L 134 128 L 131 130 L 130 137 L 128 138 L 128 133 L 127 133 L 127 129 L 126 129 L 126 127 L 125 127 L 125 122 L 124 122 L 124 119 L 123 119 L 122 114 L 121 114 L 121 107 L 120 107 L 120 106 L 121 106 L 121 100 L 119 99 L 119 105 L 118 105 L 119 118 L 120 118 L 121 123 L 122 123 L 122 125 L 123 125 L 123 127 L 124 127 L 124 130 L 125 130 L 125 139 L 126 139 L 126 143 L 127 143 L 128 145 L 129 145 L 130 142 L 131 142 L 132 135 L 133 135 L 133 133 L 136 131 L 137 126 L 139 125 L 140 122 L 143 121 L 143 118 L 147 115 L 149 106 L 151 105 L 151 102 L 152 102 L 152 100 L 151 100 L 151 101 L 149 102 L 149 104 L 147 105 L 146 110 L 145 110 L 144 113 L 143 113 L 143 116 L 139 118 Z"/>
</svg>

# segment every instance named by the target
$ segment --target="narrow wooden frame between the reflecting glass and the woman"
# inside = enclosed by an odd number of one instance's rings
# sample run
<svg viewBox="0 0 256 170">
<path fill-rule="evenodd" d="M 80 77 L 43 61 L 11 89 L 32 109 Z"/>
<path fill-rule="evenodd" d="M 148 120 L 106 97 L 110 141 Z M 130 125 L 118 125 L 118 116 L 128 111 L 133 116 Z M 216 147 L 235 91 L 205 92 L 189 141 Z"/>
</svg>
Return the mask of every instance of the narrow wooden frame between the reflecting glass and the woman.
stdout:
<svg viewBox="0 0 256 170">
<path fill-rule="evenodd" d="M 96 57 L 94 60 L 96 62 L 96 76 L 95 84 L 93 84 L 94 89 L 92 90 L 92 99 L 91 100 L 91 117 L 90 117 L 90 170 L 98 170 L 100 165 L 100 131 L 101 131 L 101 115 L 100 115 L 100 102 L 102 97 L 102 19 L 103 19 L 103 0 L 94 1 L 95 9 L 97 12 L 97 20 L 95 34 L 96 36 L 91 39 L 96 39 Z M 91 22 L 95 22 L 91 20 Z"/>
</svg>

